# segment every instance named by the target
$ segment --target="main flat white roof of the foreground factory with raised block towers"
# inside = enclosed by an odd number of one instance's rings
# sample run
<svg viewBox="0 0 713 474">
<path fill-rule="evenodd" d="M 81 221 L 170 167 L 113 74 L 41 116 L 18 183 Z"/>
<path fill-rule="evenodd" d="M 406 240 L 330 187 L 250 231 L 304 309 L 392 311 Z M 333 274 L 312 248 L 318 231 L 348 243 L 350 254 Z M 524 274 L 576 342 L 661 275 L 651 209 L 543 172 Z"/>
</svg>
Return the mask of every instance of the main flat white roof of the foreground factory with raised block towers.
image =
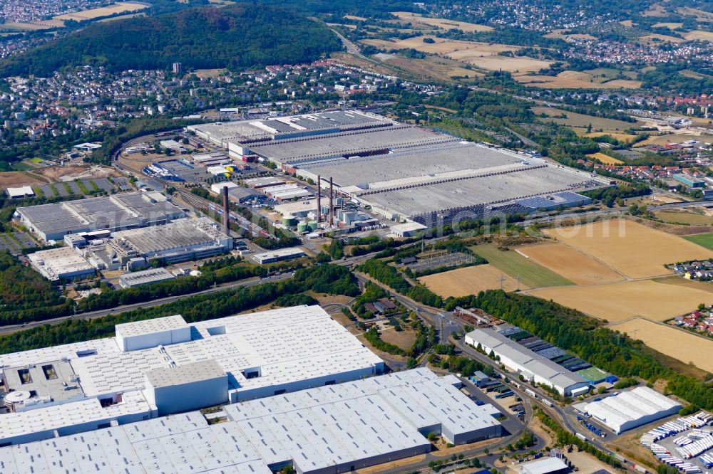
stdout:
<svg viewBox="0 0 713 474">
<path fill-rule="evenodd" d="M 163 319 L 163 318 L 162 318 Z M 165 323 L 173 327 L 174 318 Z M 155 322 L 122 326 L 146 335 Z M 319 306 L 297 306 L 195 322 L 187 342 L 166 344 L 156 339 L 145 349 L 124 352 L 116 339 L 96 339 L 27 352 L 0 355 L 0 367 L 41 364 L 66 357 L 87 396 L 142 389 L 144 374 L 153 369 L 215 359 L 229 374 L 235 399 L 264 396 L 261 390 L 292 382 L 372 370 L 383 362 Z M 135 332 L 135 331 L 134 331 Z M 150 339 L 149 343 L 150 345 Z M 82 354 L 88 354 L 81 357 Z M 242 371 L 259 368 L 247 379 Z M 304 387 L 303 387 L 304 388 Z M 275 389 L 273 389 L 274 391 Z M 272 391 L 270 391 L 272 394 Z M 0 417 L 1 418 L 1 417 Z"/>
</svg>

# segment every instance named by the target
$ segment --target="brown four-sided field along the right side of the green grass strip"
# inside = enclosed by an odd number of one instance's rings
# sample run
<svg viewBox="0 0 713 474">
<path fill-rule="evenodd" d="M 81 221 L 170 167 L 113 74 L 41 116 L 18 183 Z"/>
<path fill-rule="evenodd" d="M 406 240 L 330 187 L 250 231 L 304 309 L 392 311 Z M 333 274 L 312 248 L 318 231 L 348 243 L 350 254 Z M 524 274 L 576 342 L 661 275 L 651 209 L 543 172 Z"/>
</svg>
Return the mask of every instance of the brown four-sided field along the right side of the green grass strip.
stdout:
<svg viewBox="0 0 713 474">
<path fill-rule="evenodd" d="M 564 243 L 520 247 L 518 251 L 578 285 L 610 283 L 624 279 L 611 268 Z"/>
</svg>

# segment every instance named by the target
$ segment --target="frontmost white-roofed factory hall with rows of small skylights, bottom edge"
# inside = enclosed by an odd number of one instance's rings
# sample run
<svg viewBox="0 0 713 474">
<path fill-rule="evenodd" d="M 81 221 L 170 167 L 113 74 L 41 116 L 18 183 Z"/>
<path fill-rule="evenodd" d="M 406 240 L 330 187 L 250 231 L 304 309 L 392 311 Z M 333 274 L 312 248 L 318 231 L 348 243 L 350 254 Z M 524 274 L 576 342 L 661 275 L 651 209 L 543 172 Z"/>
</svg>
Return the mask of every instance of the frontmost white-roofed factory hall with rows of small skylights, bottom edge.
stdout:
<svg viewBox="0 0 713 474">
<path fill-rule="evenodd" d="M 337 473 L 428 453 L 429 432 L 456 430 L 458 444 L 501 436 L 458 384 L 415 369 L 322 386 L 225 406 L 227 421 L 210 426 L 192 411 L 0 448 L 0 470 L 269 474 L 292 464 Z"/>
</svg>

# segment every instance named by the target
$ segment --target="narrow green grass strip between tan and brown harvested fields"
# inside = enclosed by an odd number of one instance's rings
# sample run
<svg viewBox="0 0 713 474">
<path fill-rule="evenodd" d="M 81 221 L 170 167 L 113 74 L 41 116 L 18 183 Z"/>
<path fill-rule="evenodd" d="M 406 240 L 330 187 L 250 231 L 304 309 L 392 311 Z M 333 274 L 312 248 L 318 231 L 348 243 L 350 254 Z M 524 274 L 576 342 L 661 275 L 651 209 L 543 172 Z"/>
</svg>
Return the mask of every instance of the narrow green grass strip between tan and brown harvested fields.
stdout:
<svg viewBox="0 0 713 474">
<path fill-rule="evenodd" d="M 713 241 L 712 241 L 713 242 Z M 471 250 L 485 258 L 493 267 L 501 270 L 511 277 L 520 277 L 520 283 L 530 288 L 548 286 L 574 285 L 570 280 L 548 270 L 519 253 L 509 250 L 501 251 L 492 243 L 483 243 L 471 247 Z"/>
</svg>

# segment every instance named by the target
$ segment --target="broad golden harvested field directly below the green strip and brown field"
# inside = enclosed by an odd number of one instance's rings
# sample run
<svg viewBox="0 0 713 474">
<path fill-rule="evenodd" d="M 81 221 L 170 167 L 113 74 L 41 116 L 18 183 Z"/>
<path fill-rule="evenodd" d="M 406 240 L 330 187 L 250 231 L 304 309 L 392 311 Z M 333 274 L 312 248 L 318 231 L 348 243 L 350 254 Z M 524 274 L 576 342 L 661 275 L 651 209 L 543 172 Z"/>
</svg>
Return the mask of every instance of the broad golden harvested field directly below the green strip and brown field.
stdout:
<svg viewBox="0 0 713 474">
<path fill-rule="evenodd" d="M 545 288 L 528 293 L 612 322 L 632 317 L 665 321 L 701 302 L 713 303 L 713 293 L 709 291 L 653 280 Z"/>
</svg>

